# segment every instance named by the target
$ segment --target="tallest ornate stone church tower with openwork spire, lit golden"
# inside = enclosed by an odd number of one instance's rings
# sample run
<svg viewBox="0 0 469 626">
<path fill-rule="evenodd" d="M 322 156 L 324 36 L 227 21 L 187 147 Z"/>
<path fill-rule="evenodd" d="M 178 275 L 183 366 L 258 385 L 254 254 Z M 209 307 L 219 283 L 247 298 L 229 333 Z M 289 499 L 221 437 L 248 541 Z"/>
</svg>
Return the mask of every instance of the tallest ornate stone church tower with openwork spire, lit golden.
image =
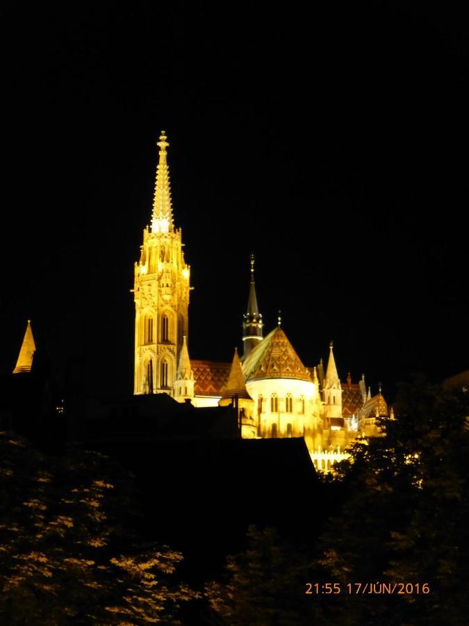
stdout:
<svg viewBox="0 0 469 626">
<path fill-rule="evenodd" d="M 156 145 L 160 152 L 151 226 L 143 231 L 140 261 L 135 263 L 134 394 L 174 393 L 188 336 L 190 266 L 184 261 L 181 229 L 173 224 L 165 131 Z"/>
</svg>

